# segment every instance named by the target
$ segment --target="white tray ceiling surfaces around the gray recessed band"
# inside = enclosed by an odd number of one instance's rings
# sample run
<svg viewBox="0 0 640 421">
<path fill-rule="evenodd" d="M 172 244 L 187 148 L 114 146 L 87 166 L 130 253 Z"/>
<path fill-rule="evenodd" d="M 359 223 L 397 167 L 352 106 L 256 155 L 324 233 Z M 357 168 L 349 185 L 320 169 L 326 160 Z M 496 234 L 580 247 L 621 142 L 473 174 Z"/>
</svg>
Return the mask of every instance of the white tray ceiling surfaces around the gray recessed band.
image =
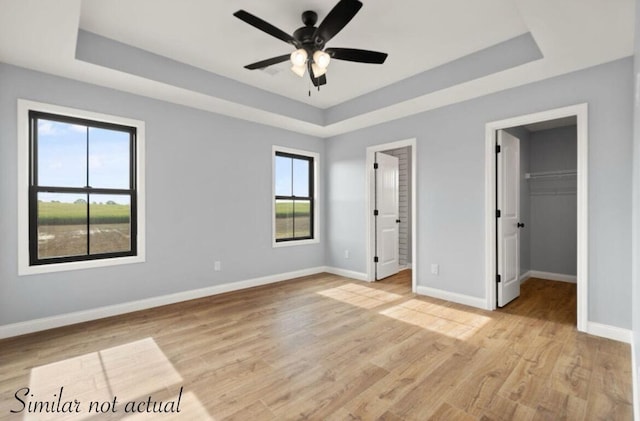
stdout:
<svg viewBox="0 0 640 421">
<path fill-rule="evenodd" d="M 330 47 L 389 53 L 383 65 L 333 60 L 328 84 L 244 65 L 292 48 L 232 16 L 245 9 L 285 32 L 337 0 L 0 0 L 0 61 L 287 129 L 331 136 L 474 98 L 633 53 L 634 0 L 366 1 Z M 229 103 L 76 60 L 79 28 L 247 85 L 326 109 L 530 32 L 544 58 L 330 125 L 279 118 L 277 110 Z"/>
</svg>

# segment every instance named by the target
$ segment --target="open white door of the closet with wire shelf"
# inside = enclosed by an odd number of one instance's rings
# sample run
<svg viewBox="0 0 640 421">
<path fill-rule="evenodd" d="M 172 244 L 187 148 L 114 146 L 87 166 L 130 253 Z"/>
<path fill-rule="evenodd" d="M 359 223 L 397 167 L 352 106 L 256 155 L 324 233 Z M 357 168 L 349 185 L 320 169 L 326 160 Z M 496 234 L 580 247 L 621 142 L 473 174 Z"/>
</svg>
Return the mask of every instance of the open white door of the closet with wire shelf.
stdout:
<svg viewBox="0 0 640 421">
<path fill-rule="evenodd" d="M 520 295 L 520 139 L 498 131 L 498 306 Z"/>
</svg>

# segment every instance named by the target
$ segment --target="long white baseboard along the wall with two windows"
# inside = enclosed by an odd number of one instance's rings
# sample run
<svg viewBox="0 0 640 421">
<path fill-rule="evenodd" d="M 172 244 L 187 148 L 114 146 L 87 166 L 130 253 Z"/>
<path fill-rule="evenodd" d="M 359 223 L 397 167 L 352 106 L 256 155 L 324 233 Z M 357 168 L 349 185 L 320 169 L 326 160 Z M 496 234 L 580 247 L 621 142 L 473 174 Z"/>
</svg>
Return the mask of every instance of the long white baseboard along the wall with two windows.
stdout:
<svg viewBox="0 0 640 421">
<path fill-rule="evenodd" d="M 299 278 L 301 276 L 315 275 L 317 273 L 326 271 L 327 270 L 324 266 L 320 266 L 316 268 L 248 279 L 246 281 L 229 282 L 227 284 L 214 285 L 207 288 L 177 292 L 175 294 L 163 295 L 160 297 L 130 301 L 128 303 L 114 304 L 89 310 L 75 311 L 73 313 L 60 314 L 57 316 L 28 320 L 25 322 L 12 323 L 0 326 L 0 339 L 18 335 L 25 335 L 27 333 L 39 332 L 46 329 L 53 329 L 56 327 L 67 326 L 76 323 L 87 322 L 90 320 L 102 319 L 105 317 L 117 316 L 120 314 L 131 313 L 133 311 L 146 310 L 149 308 L 159 307 L 167 304 L 179 303 L 181 301 L 208 297 L 210 295 L 222 294 L 225 292 L 272 284 L 275 282 L 286 281 L 288 279 Z"/>
</svg>

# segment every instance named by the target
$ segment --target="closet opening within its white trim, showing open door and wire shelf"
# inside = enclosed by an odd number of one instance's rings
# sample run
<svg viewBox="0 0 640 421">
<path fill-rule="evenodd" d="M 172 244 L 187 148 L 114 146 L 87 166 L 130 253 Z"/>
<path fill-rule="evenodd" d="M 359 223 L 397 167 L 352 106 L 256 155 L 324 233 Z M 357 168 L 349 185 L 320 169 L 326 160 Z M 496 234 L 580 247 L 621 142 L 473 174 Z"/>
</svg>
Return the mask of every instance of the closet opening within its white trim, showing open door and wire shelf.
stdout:
<svg viewBox="0 0 640 421">
<path fill-rule="evenodd" d="M 497 141 L 497 305 L 529 278 L 576 282 L 577 118 L 501 129 Z"/>
</svg>

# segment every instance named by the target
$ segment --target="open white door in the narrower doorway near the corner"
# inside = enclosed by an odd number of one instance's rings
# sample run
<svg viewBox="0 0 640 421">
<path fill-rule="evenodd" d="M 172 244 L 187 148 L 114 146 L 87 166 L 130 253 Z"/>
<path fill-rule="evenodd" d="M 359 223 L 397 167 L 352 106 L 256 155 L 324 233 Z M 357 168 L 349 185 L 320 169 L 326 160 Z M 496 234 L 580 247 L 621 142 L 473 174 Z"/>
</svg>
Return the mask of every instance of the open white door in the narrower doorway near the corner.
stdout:
<svg viewBox="0 0 640 421">
<path fill-rule="evenodd" d="M 398 158 L 376 152 L 376 279 L 399 272 Z"/>
</svg>

